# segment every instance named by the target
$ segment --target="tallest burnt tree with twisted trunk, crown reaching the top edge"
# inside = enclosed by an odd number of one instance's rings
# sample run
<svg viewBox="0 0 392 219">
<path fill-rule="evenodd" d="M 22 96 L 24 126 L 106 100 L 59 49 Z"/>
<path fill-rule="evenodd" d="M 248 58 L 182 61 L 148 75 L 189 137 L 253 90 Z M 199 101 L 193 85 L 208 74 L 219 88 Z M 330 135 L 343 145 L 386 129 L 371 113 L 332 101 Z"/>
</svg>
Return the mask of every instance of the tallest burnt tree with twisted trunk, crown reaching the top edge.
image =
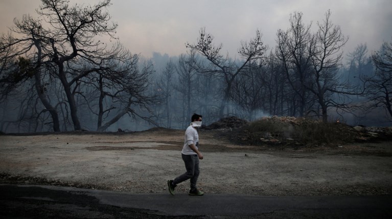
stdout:
<svg viewBox="0 0 392 219">
<path fill-rule="evenodd" d="M 116 24 L 108 24 L 110 16 L 105 9 L 110 0 L 105 0 L 92 7 L 68 5 L 65 0 L 42 0 L 37 13 L 50 24 L 46 38 L 51 43 L 51 61 L 56 65 L 54 75 L 61 81 L 70 107 L 71 118 L 75 130 L 81 130 L 77 114 L 75 91 L 78 81 L 91 71 L 72 72 L 67 67 L 82 64 L 104 56 L 106 45 L 98 39 L 98 35 L 113 37 Z"/>
</svg>

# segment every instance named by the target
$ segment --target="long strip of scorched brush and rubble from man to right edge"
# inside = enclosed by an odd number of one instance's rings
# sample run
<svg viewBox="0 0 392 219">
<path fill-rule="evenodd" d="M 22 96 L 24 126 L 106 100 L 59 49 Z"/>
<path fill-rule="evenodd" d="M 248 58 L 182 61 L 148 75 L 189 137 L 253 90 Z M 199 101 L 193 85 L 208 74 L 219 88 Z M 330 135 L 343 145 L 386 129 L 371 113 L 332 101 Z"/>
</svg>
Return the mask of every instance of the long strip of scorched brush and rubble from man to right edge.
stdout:
<svg viewBox="0 0 392 219">
<path fill-rule="evenodd" d="M 203 129 L 218 130 L 217 138 L 226 138 L 239 145 L 317 147 L 392 140 L 390 127 L 353 127 L 342 122 L 278 116 L 251 122 L 227 117 L 203 126 Z"/>
</svg>

